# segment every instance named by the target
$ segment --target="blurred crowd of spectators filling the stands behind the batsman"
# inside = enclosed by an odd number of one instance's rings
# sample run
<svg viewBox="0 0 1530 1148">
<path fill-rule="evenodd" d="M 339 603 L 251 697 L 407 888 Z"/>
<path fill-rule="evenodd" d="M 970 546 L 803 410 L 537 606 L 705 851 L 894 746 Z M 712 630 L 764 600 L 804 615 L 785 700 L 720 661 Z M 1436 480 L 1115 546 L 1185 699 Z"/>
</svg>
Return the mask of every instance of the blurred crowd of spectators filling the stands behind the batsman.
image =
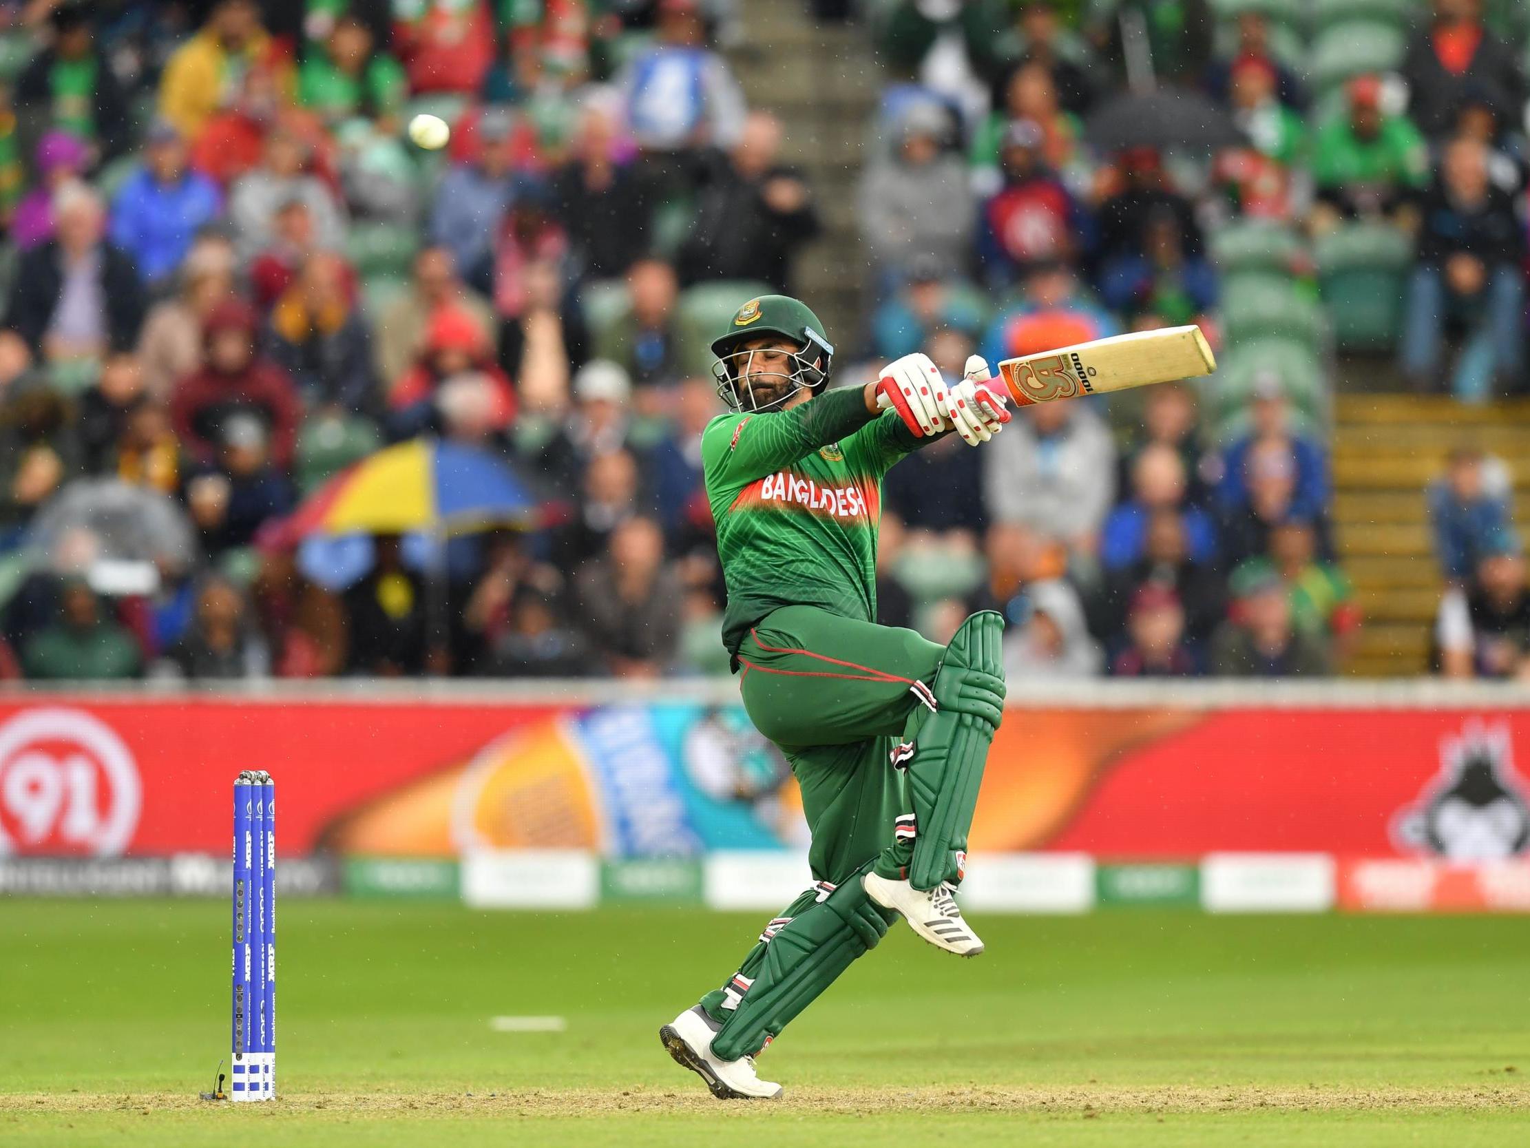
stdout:
<svg viewBox="0 0 1530 1148">
<path fill-rule="evenodd" d="M 1192 321 L 1222 360 L 1215 389 L 1036 406 L 895 468 L 881 620 L 946 640 L 999 609 L 1016 677 L 1336 672 L 1360 618 L 1331 355 L 1463 401 L 1521 387 L 1518 8 L 780 3 L 858 21 L 881 77 L 837 381 Z M 794 126 L 728 64 L 770 51 L 739 15 L 0 3 L 0 677 L 727 672 L 707 343 L 794 292 L 823 233 Z M 407 142 L 421 112 L 444 152 Z M 513 470 L 537 528 L 283 528 L 422 436 Z M 1484 467 L 1431 491 L 1447 672 L 1530 649 Z M 1509 614 L 1518 654 L 1483 655 Z"/>
</svg>

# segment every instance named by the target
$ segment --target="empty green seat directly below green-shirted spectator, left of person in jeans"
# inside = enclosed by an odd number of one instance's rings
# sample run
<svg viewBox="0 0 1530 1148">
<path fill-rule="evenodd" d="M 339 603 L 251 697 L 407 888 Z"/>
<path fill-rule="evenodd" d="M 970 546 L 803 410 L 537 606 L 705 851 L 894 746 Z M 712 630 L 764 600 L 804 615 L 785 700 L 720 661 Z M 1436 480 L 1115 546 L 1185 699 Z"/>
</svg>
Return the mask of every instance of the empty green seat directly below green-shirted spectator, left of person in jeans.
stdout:
<svg viewBox="0 0 1530 1148">
<path fill-rule="evenodd" d="M 1351 223 L 1317 240 L 1317 282 L 1339 351 L 1397 346 L 1412 257 L 1412 240 L 1386 223 Z"/>
</svg>

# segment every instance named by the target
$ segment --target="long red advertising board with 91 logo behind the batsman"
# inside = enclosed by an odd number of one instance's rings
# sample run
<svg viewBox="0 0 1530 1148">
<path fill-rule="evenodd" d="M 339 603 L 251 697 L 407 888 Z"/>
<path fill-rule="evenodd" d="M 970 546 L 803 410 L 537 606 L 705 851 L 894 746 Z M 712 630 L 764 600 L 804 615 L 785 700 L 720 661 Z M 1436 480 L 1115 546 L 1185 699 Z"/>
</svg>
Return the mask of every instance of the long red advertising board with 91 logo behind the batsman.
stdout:
<svg viewBox="0 0 1530 1148">
<path fill-rule="evenodd" d="M 230 787 L 245 768 L 277 776 L 292 854 L 800 840 L 789 775 L 734 710 L 684 700 L 8 698 L 0 856 L 222 853 Z M 1530 781 L 1516 765 L 1527 739 L 1530 713 L 1516 710 L 1013 709 L 970 843 L 1134 860 L 1502 860 L 1530 854 Z"/>
</svg>

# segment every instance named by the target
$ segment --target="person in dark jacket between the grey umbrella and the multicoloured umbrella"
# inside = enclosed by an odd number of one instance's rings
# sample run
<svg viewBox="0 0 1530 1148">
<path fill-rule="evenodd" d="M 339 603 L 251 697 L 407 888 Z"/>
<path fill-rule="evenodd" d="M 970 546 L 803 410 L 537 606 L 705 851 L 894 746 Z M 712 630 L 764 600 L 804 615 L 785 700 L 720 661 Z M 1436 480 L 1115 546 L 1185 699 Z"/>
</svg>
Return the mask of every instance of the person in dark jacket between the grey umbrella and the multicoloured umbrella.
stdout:
<svg viewBox="0 0 1530 1148">
<path fill-rule="evenodd" d="M 185 504 L 208 554 L 248 546 L 256 531 L 292 510 L 292 484 L 271 465 L 265 421 L 236 410 L 219 426 L 217 459 L 193 468 Z"/>
</svg>

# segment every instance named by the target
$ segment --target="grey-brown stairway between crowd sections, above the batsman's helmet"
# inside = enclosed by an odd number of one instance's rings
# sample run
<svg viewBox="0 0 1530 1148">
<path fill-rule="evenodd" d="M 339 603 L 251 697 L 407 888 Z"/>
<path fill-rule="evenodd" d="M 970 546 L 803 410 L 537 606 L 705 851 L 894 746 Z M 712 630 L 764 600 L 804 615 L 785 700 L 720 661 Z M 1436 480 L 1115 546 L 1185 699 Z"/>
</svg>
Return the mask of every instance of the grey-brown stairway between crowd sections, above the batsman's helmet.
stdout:
<svg viewBox="0 0 1530 1148">
<path fill-rule="evenodd" d="M 802 0 L 742 5 L 728 63 L 750 107 L 785 126 L 782 161 L 803 170 L 823 233 L 797 259 L 796 289 L 849 347 L 861 332 L 864 259 L 855 185 L 883 75 L 861 24 L 822 24 Z"/>
</svg>

